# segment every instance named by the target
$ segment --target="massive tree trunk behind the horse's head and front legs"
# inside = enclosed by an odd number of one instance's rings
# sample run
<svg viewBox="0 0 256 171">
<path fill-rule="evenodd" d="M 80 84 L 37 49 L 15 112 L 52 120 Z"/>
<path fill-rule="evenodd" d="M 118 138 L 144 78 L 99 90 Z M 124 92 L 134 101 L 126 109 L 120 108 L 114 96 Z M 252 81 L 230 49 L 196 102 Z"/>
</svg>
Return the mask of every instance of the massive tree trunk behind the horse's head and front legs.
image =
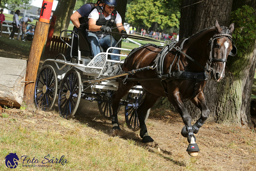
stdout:
<svg viewBox="0 0 256 171">
<path fill-rule="evenodd" d="M 191 1 L 189 1 L 192 4 Z M 194 1 L 196 2 L 196 1 Z M 233 2 L 233 6 L 232 6 Z M 187 5 L 182 1 L 182 6 Z M 242 5 L 255 8 L 255 0 L 204 0 L 188 9 L 183 8 L 180 19 L 180 35 L 188 37 L 204 28 L 214 26 L 215 19 L 224 26 L 229 26 L 231 7 L 232 10 Z M 238 125 L 247 128 L 251 126 L 250 102 L 251 87 L 255 71 L 255 41 L 246 49 L 242 57 L 229 56 L 226 64 L 225 78 L 219 83 L 208 79 L 204 87 L 206 104 L 211 114 L 208 121 L 215 121 L 224 125 Z M 166 99 L 160 101 L 160 106 L 170 107 Z M 191 102 L 185 104 L 192 118 L 197 120 L 200 111 Z"/>
</svg>

